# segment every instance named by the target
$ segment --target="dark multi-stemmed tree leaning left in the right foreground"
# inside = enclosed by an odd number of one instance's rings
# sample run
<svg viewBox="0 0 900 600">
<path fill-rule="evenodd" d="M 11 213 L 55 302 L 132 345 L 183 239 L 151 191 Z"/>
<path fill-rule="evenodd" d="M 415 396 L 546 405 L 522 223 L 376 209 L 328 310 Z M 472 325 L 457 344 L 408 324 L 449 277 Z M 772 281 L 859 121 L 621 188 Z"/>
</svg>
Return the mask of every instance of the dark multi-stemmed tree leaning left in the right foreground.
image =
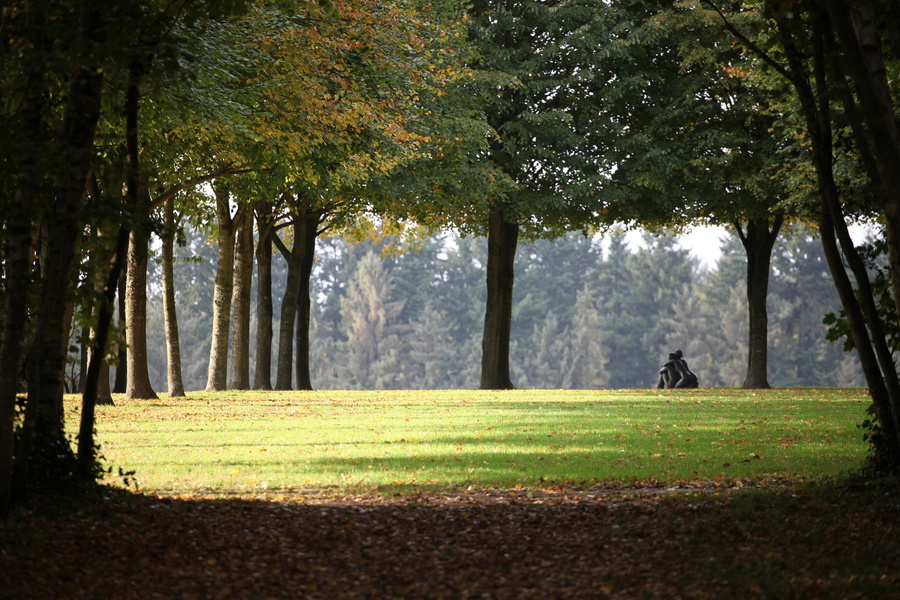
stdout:
<svg viewBox="0 0 900 600">
<path fill-rule="evenodd" d="M 865 264 L 847 229 L 846 204 L 835 177 L 837 112 L 849 124 L 853 148 L 858 152 L 869 189 L 857 203 L 863 212 L 875 210 L 884 220 L 892 266 L 894 303 L 900 311 L 900 238 L 897 236 L 900 200 L 900 137 L 893 110 L 893 91 L 887 73 L 897 66 L 897 17 L 886 6 L 857 0 L 764 4 L 770 27 L 759 43 L 732 23 L 716 4 L 724 27 L 793 88 L 797 113 L 805 124 L 805 142 L 815 168 L 818 187 L 818 222 L 825 255 L 859 354 L 881 442 L 876 462 L 895 467 L 900 461 L 900 379 L 885 342 L 884 325 Z M 775 46 L 778 55 L 767 52 Z M 848 276 L 844 261 L 856 281 Z"/>
</svg>

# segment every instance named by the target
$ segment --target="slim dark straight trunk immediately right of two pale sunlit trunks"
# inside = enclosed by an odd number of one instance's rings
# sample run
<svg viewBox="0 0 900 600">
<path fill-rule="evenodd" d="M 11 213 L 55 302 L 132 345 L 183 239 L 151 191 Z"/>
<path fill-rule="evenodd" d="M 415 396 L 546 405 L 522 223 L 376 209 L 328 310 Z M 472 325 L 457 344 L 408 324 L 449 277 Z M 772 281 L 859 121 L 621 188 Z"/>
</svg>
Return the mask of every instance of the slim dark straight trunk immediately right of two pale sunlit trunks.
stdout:
<svg viewBox="0 0 900 600">
<path fill-rule="evenodd" d="M 256 206 L 256 367 L 254 390 L 272 389 L 272 207 L 264 202 Z"/>
</svg>

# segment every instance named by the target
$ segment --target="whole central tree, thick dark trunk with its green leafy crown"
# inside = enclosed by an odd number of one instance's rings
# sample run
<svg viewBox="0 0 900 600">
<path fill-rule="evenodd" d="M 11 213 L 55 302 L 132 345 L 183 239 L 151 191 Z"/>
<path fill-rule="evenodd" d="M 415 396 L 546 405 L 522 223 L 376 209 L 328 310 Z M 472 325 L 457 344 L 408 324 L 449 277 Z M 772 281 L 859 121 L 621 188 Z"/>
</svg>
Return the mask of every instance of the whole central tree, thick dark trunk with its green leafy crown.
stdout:
<svg viewBox="0 0 900 600">
<path fill-rule="evenodd" d="M 551 237 L 583 227 L 591 213 L 586 182 L 602 170 L 590 152 L 602 132 L 571 106 L 589 55 L 569 38 L 590 25 L 589 11 L 568 2 L 482 1 L 470 32 L 478 69 L 504 73 L 514 85 L 486 82 L 482 110 L 496 132 L 485 159 L 511 182 L 476 205 L 488 237 L 487 306 L 482 338 L 483 389 L 513 387 L 509 372 L 514 261 L 520 232 Z M 590 125 L 596 125 L 595 123 Z"/>
</svg>

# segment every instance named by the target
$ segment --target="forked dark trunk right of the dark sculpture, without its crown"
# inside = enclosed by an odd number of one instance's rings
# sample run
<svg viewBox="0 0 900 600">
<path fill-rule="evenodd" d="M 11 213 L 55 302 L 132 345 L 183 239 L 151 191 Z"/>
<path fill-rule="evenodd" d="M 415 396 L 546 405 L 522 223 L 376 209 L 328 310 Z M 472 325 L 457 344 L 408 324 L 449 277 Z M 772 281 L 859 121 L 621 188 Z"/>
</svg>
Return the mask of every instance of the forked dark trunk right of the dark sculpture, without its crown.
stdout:
<svg viewBox="0 0 900 600">
<path fill-rule="evenodd" d="M 738 236 L 747 253 L 747 306 L 749 308 L 749 352 L 747 355 L 747 389 L 767 389 L 768 379 L 769 315 L 766 300 L 769 296 L 769 273 L 772 265 L 772 248 L 784 221 L 782 214 L 775 217 L 771 229 L 766 217 L 751 219 L 745 232 L 735 224 Z"/>
</svg>

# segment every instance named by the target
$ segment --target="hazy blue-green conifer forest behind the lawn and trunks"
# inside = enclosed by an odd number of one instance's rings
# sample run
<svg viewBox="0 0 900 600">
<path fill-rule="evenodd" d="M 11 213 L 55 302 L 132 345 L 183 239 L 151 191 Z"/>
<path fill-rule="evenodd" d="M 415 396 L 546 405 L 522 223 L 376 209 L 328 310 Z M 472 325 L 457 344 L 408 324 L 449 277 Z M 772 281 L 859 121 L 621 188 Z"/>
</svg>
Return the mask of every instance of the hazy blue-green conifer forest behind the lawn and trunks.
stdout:
<svg viewBox="0 0 900 600">
<path fill-rule="evenodd" d="M 209 361 L 216 252 L 204 232 L 185 233 L 185 245 L 176 250 L 175 289 L 185 388 L 197 390 L 205 385 Z M 514 383 L 649 387 L 666 354 L 681 348 L 702 386 L 739 386 L 747 368 L 746 258 L 734 236 L 722 244 L 710 268 L 677 238 L 649 234 L 641 244 L 629 244 L 624 234 L 572 233 L 522 246 L 511 342 Z M 432 236 L 403 253 L 383 252 L 385 246 L 319 241 L 310 290 L 316 299 L 314 387 L 478 387 L 485 240 Z M 772 385 L 864 385 L 856 354 L 825 339 L 822 319 L 839 302 L 821 243 L 805 233 L 783 236 L 772 267 Z M 151 282 L 160 280 L 159 270 L 159 262 L 151 261 Z M 285 273 L 283 262 L 275 261 L 276 321 Z M 165 390 L 160 293 L 150 286 L 148 362 L 154 388 Z"/>
</svg>

